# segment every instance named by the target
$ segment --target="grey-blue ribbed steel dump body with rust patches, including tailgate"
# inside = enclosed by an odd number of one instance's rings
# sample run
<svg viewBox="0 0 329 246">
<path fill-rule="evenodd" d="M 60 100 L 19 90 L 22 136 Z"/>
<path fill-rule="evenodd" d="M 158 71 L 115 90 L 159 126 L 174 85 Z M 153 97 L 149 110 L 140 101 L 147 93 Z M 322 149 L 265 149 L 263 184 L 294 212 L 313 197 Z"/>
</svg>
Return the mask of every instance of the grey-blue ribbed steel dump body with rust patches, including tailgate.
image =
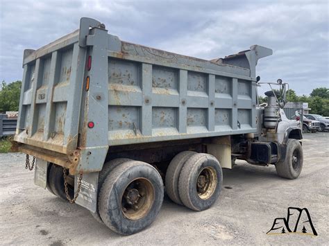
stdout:
<svg viewBox="0 0 329 246">
<path fill-rule="evenodd" d="M 109 146 L 256 132 L 257 47 L 208 61 L 89 26 L 24 53 L 15 136 L 24 152 L 88 173 Z"/>
</svg>

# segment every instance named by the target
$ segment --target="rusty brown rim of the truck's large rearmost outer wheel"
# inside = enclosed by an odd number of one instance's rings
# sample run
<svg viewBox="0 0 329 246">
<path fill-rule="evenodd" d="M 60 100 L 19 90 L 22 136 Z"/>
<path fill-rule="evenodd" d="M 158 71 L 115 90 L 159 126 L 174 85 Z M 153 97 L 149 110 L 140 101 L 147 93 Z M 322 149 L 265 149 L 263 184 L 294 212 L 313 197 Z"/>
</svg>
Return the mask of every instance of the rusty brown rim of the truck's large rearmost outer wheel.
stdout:
<svg viewBox="0 0 329 246">
<path fill-rule="evenodd" d="M 134 179 L 121 196 L 121 211 L 129 220 L 140 220 L 149 213 L 154 197 L 154 188 L 149 179 Z"/>
</svg>

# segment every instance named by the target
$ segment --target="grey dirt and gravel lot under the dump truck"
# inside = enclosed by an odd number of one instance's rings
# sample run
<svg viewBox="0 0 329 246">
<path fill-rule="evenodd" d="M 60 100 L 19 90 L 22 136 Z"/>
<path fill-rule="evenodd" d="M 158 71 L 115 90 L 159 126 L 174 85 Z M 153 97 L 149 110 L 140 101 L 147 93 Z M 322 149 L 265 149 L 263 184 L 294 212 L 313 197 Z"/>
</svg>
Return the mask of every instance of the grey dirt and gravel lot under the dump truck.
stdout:
<svg viewBox="0 0 329 246">
<path fill-rule="evenodd" d="M 324 245 L 328 235 L 329 133 L 304 134 L 304 168 L 296 180 L 282 179 L 274 166 L 238 161 L 223 172 L 214 207 L 194 212 L 165 197 L 158 218 L 133 236 L 119 236 L 90 213 L 33 184 L 24 155 L 0 154 L 0 244 L 2 245 Z M 269 236 L 273 219 L 288 207 L 306 207 L 319 236 Z"/>
</svg>

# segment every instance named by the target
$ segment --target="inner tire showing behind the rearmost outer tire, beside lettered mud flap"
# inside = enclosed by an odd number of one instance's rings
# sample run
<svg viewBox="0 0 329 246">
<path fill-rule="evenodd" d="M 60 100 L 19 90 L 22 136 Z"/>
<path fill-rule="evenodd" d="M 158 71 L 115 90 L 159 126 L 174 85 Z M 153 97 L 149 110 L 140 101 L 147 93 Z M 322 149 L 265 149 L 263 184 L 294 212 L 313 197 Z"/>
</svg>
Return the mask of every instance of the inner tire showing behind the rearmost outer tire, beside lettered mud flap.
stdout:
<svg viewBox="0 0 329 246">
<path fill-rule="evenodd" d="M 94 217 L 98 222 L 103 224 L 103 220 L 101 220 L 101 215 L 99 214 L 99 193 L 101 191 L 101 186 L 103 185 L 103 182 L 105 181 L 106 177 L 108 177 L 108 174 L 114 170 L 117 166 L 120 164 L 123 164 L 126 161 L 131 161 L 131 159 L 128 158 L 118 158 L 118 159 L 112 159 L 108 162 L 106 162 L 103 165 L 103 169 L 99 172 L 99 184 L 98 184 L 98 191 L 97 191 L 97 206 L 96 206 L 96 212 L 90 212 L 92 214 L 92 217 Z"/>
</svg>

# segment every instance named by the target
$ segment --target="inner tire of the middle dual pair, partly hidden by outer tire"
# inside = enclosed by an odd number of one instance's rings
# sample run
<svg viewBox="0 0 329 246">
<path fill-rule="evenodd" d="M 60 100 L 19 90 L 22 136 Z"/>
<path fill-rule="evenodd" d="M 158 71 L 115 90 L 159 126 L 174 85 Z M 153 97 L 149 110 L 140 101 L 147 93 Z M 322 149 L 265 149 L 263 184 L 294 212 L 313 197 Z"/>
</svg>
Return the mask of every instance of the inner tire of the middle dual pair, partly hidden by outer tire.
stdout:
<svg viewBox="0 0 329 246">
<path fill-rule="evenodd" d="M 167 168 L 165 187 L 167 195 L 173 202 L 176 202 L 176 204 L 183 205 L 183 202 L 180 200 L 178 192 L 178 179 L 180 171 L 182 170 L 187 159 L 189 159 L 189 157 L 192 157 L 192 155 L 195 154 L 196 152 L 193 151 L 180 152 L 174 157 L 174 159 L 170 161 L 170 164 Z"/>
</svg>

